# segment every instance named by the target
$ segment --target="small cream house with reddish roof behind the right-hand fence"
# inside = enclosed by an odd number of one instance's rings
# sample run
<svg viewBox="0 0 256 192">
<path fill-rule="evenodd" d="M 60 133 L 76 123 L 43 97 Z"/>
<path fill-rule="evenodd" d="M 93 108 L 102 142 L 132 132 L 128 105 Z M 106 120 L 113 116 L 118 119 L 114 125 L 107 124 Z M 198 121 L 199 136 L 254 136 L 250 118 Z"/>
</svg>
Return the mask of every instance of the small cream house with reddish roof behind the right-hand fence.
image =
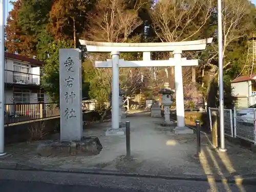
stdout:
<svg viewBox="0 0 256 192">
<path fill-rule="evenodd" d="M 256 103 L 256 75 L 238 77 L 231 81 L 231 87 L 238 107 L 247 108 Z"/>
</svg>

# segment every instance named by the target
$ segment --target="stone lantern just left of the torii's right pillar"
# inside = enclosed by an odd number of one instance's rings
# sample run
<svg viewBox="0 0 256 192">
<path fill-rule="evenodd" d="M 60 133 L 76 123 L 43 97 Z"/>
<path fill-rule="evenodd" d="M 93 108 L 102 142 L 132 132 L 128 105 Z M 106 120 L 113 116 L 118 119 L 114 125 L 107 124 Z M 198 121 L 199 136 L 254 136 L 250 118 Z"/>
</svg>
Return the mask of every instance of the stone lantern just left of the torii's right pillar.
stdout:
<svg viewBox="0 0 256 192">
<path fill-rule="evenodd" d="M 161 125 L 166 126 L 173 124 L 173 121 L 170 121 L 170 106 L 173 104 L 172 94 L 175 93 L 174 90 L 169 88 L 169 83 L 164 83 L 164 88 L 159 91 L 162 94 L 162 104 L 164 106 L 164 122 Z"/>
</svg>

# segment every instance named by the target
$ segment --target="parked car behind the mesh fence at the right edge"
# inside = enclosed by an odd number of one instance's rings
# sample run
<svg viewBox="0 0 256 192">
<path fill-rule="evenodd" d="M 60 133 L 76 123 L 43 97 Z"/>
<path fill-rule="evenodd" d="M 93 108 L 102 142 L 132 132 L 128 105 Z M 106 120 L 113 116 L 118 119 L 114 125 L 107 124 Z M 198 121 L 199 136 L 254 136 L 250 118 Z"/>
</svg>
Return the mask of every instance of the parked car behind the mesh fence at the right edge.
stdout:
<svg viewBox="0 0 256 192">
<path fill-rule="evenodd" d="M 237 109 L 236 119 L 238 123 L 243 123 L 245 125 L 247 125 L 247 123 L 254 124 L 254 109 L 256 110 L 256 104 L 253 104 L 248 108 Z"/>
</svg>

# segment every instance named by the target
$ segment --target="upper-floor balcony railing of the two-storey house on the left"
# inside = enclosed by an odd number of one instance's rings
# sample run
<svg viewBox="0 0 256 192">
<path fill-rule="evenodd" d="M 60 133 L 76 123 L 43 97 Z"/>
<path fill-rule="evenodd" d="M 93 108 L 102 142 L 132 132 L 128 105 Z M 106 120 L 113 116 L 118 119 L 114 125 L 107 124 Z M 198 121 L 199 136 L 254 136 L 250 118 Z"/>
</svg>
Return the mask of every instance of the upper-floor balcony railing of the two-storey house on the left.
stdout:
<svg viewBox="0 0 256 192">
<path fill-rule="evenodd" d="M 40 84 L 40 75 L 5 70 L 5 82 L 15 84 Z"/>
</svg>

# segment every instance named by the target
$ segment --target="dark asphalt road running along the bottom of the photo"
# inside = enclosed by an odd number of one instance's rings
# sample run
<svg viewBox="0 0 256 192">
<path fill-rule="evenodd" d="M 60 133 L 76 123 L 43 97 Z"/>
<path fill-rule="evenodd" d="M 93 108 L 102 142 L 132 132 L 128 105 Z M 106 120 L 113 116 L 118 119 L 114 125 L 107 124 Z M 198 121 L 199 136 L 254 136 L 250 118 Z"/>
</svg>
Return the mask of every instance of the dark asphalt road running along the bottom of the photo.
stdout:
<svg viewBox="0 0 256 192">
<path fill-rule="evenodd" d="M 167 192 L 242 191 L 256 186 L 188 180 L 165 180 L 0 169 L 0 191 L 8 192 Z"/>
</svg>

